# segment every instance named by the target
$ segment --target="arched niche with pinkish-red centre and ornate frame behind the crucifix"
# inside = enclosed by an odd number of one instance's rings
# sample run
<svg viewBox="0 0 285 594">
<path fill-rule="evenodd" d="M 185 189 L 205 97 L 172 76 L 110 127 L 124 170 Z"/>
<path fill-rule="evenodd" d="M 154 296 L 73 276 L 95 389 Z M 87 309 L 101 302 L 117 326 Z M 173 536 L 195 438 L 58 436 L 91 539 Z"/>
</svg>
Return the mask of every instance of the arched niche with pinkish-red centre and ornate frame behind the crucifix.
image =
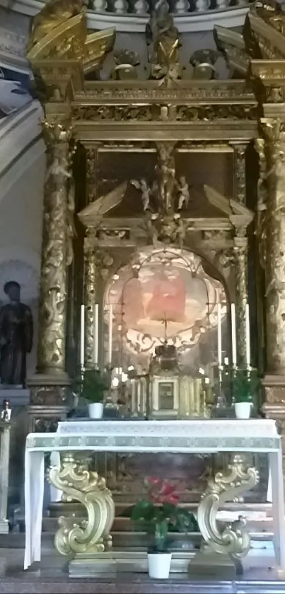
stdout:
<svg viewBox="0 0 285 594">
<path fill-rule="evenodd" d="M 200 365 L 211 375 L 217 358 L 217 311 L 221 304 L 223 356 L 228 355 L 228 299 L 223 279 L 190 250 L 172 246 L 136 251 L 113 271 L 105 288 L 105 336 L 112 304 L 112 362 L 147 370 L 165 338 L 175 344 L 187 372 Z M 107 345 L 105 345 L 107 348 Z"/>
</svg>

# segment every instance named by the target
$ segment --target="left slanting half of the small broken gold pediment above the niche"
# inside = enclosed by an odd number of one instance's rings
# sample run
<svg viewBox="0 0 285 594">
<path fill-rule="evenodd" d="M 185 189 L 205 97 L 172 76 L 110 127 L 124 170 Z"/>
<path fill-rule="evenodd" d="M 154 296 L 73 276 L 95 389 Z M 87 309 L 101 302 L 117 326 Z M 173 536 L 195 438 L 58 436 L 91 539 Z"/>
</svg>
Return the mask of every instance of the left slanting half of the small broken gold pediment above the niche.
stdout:
<svg viewBox="0 0 285 594">
<path fill-rule="evenodd" d="M 93 227 L 94 224 L 98 224 L 101 217 L 107 215 L 113 208 L 122 202 L 124 193 L 127 190 L 127 181 L 117 185 L 117 188 L 107 193 L 105 196 L 100 196 L 94 202 L 91 202 L 88 206 L 83 208 L 81 212 L 78 212 L 78 219 L 84 227 Z"/>
</svg>

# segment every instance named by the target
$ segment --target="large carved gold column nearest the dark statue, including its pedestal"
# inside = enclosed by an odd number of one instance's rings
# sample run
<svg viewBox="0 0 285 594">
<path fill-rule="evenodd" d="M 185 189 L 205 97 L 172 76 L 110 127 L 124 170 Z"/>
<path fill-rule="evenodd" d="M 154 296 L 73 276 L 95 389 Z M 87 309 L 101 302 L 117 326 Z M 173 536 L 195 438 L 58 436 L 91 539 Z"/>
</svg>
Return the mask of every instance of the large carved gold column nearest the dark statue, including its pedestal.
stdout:
<svg viewBox="0 0 285 594">
<path fill-rule="evenodd" d="M 32 426 L 42 405 L 48 405 L 48 419 L 59 420 L 64 414 L 67 267 L 72 261 L 71 227 L 74 212 L 74 185 L 71 174 L 71 128 L 62 123 L 43 123 L 47 144 L 47 171 L 44 188 L 42 262 L 40 272 L 40 307 L 37 340 L 37 372 L 28 379 L 31 391 L 29 413 Z M 59 406 L 59 411 L 52 411 Z M 42 421 L 40 421 L 41 423 Z"/>
</svg>

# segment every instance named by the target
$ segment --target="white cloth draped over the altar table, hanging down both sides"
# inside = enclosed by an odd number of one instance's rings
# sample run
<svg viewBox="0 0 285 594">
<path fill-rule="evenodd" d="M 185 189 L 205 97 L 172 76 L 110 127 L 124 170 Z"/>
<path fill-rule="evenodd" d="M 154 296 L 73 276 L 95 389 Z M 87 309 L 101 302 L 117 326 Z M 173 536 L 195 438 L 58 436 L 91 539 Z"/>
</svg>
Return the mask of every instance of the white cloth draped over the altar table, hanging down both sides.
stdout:
<svg viewBox="0 0 285 594">
<path fill-rule="evenodd" d="M 269 456 L 277 565 L 285 570 L 281 439 L 271 419 L 69 421 L 57 433 L 30 433 L 25 448 L 24 569 L 40 561 L 45 452 L 260 452 Z M 279 518 L 282 521 L 279 522 Z"/>
</svg>

